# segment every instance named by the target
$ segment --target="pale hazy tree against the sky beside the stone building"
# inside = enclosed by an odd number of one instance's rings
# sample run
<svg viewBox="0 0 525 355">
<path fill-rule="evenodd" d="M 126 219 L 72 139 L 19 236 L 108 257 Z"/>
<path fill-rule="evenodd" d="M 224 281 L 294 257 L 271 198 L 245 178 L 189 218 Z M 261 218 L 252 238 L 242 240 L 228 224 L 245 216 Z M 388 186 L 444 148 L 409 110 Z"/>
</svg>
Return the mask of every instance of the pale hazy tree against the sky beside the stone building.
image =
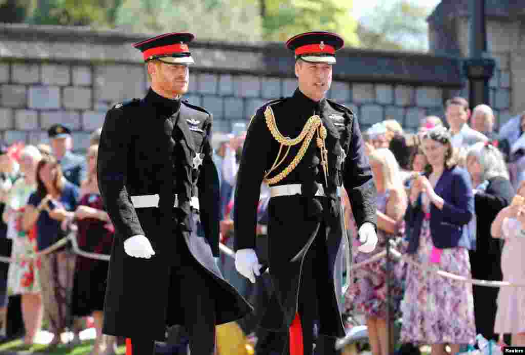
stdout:
<svg viewBox="0 0 525 355">
<path fill-rule="evenodd" d="M 362 48 L 376 50 L 427 50 L 426 18 L 432 9 L 399 0 L 377 5 L 359 20 Z"/>
</svg>

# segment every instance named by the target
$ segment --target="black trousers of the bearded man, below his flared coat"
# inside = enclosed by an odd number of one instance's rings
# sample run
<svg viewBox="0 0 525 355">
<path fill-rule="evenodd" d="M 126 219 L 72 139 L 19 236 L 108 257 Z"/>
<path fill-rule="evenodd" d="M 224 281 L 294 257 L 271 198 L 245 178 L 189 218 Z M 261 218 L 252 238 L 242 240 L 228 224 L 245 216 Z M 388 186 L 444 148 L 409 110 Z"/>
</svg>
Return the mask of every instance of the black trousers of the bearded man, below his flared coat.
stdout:
<svg viewBox="0 0 525 355">
<path fill-rule="evenodd" d="M 197 237 L 196 237 L 197 238 Z M 182 245 L 181 245 L 182 244 Z M 190 256 L 186 243 L 178 243 L 183 249 L 180 263 L 171 267 L 170 295 L 177 295 L 179 304 L 169 302 L 167 314 L 180 310 L 184 317 L 184 327 L 190 336 L 192 354 L 213 355 L 215 352 L 215 299 L 213 298 L 213 279 L 206 274 L 203 266 Z M 176 310 L 175 310 L 176 309 Z M 145 325 L 147 326 L 147 325 Z M 132 338 L 133 355 L 154 354 L 154 341 Z"/>
</svg>

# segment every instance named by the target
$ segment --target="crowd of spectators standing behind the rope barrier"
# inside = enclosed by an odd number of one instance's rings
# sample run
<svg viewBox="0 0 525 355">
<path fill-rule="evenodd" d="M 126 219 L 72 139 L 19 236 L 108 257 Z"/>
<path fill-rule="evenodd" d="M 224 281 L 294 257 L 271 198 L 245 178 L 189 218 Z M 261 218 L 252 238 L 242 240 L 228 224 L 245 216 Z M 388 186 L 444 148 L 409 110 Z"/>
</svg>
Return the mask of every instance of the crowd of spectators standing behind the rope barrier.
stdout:
<svg viewBox="0 0 525 355">
<path fill-rule="evenodd" d="M 365 262 L 384 251 L 389 240 L 404 257 L 392 259 L 388 273 L 383 258 L 346 275 L 350 287 L 345 315 L 365 315 L 374 355 L 390 353 L 387 318 L 402 320 L 400 342 L 430 345 L 433 355 L 446 353 L 446 345 L 458 352 L 474 343 L 477 334 L 496 341 L 511 334 L 512 345 L 525 346 L 525 288 L 473 286 L 435 272 L 525 282 L 519 254 L 525 240 L 525 113 L 512 117 L 499 132 L 496 126 L 488 105 L 471 111 L 467 100 L 453 98 L 446 102 L 443 118 L 425 117 L 416 133 L 404 132 L 395 120 L 363 132 L 377 187 L 379 243 L 370 254 L 354 245 L 351 259 L 354 264 Z M 101 333 L 107 262 L 77 256 L 67 245 L 45 253 L 76 231 L 80 248 L 109 254 L 114 229 L 96 176 L 100 130 L 93 132 L 84 157 L 71 153 L 68 127 L 55 125 L 48 133 L 49 146 L 0 145 L 0 251 L 13 259 L 0 263 L 4 336 L 12 317 L 8 305 L 19 296 L 26 345 L 35 341 L 43 322 L 54 334 L 51 347 L 61 342 L 66 328 L 79 341 L 85 327 L 81 320 L 89 316 L 97 332 L 92 354 L 113 354 L 116 339 Z M 213 142 L 220 180 L 220 242 L 230 248 L 245 134 L 216 133 Z M 268 187 L 262 185 L 256 230 L 262 261 L 269 198 Z M 348 196 L 343 194 L 342 201 L 346 230 L 355 236 Z M 45 254 L 31 257 L 35 252 Z M 219 264 L 241 294 L 256 304 L 268 302 L 267 275 L 254 285 L 237 273 L 231 256 L 223 254 Z M 246 334 L 255 329 L 257 314 L 254 317 L 239 321 Z M 258 354 L 282 348 L 283 339 L 271 332 L 259 331 L 257 337 Z"/>
</svg>

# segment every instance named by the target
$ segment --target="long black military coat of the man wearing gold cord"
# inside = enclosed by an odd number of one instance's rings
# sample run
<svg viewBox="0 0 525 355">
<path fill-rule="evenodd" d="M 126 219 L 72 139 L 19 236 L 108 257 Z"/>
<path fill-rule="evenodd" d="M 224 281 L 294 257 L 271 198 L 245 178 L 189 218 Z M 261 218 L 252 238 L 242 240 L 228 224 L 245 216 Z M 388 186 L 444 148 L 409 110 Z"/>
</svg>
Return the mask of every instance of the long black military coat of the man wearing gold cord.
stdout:
<svg viewBox="0 0 525 355">
<path fill-rule="evenodd" d="M 280 144 L 270 133 L 265 119 L 268 105 L 275 114 L 279 132 L 290 138 L 300 134 L 310 116 L 320 115 L 323 125 L 328 130 L 326 145 L 329 176 L 326 186 L 316 135 L 295 170 L 275 184 L 301 184 L 302 193 L 296 196 L 273 197 L 269 202 L 268 264 L 274 295 L 261 326 L 278 331 L 286 331 L 290 326 L 298 307 L 304 256 L 318 236 L 325 238 L 328 265 L 315 265 L 314 268 L 324 268 L 325 275 L 333 278 L 334 287 L 312 290 L 311 294 L 308 292 L 301 296 L 314 297 L 311 295 L 315 295 L 316 291 L 330 293 L 328 297 L 323 297 L 330 299 L 330 302 L 319 305 L 319 314 L 330 315 L 330 324 L 321 324 L 320 331 L 324 331 L 324 335 L 344 336 L 340 313 L 342 290 L 336 268 L 340 263 L 341 241 L 345 230 L 337 187 L 344 184 L 349 192 L 358 227 L 364 222 L 376 224 L 376 190 L 368 159 L 364 155 L 359 124 L 346 107 L 326 99 L 314 102 L 299 89 L 291 98 L 269 102 L 257 110 L 248 127 L 237 176 L 234 210 L 235 250 L 255 249 L 260 185 L 265 171 L 274 164 L 279 152 Z M 291 147 L 286 159 L 270 177 L 290 164 L 301 145 L 302 143 Z M 286 150 L 287 147 L 283 147 L 283 152 Z M 322 183 L 327 197 L 314 197 L 317 191 L 314 182 Z M 316 299 L 312 299 L 312 306 L 315 302 Z"/>
</svg>

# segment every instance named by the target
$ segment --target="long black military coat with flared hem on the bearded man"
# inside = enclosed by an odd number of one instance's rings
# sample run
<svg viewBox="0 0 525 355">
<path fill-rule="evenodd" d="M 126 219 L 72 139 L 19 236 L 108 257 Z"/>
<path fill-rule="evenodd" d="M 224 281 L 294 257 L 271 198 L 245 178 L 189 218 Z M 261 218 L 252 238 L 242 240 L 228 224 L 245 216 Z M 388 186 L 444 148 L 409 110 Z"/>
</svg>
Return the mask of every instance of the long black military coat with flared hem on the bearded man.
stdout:
<svg viewBox="0 0 525 355">
<path fill-rule="evenodd" d="M 169 287 L 171 266 L 188 249 L 209 275 L 205 292 L 216 304 L 217 324 L 251 311 L 214 261 L 219 255 L 219 185 L 212 160 L 212 117 L 185 101 L 173 100 L 171 107 L 165 101 L 150 90 L 143 100 L 114 106 L 102 128 L 98 181 L 116 230 L 104 334 L 164 340 L 166 326 L 184 324 L 180 309 L 185 305 L 178 295 L 169 295 Z M 198 169 L 193 168 L 196 154 L 203 159 Z M 160 195 L 158 207 L 133 207 L 130 196 L 152 194 Z M 178 208 L 173 207 L 175 194 Z M 198 196 L 200 215 L 190 208 L 192 195 Z M 137 234 L 150 240 L 155 251 L 151 259 L 124 252 L 123 242 Z"/>
</svg>

